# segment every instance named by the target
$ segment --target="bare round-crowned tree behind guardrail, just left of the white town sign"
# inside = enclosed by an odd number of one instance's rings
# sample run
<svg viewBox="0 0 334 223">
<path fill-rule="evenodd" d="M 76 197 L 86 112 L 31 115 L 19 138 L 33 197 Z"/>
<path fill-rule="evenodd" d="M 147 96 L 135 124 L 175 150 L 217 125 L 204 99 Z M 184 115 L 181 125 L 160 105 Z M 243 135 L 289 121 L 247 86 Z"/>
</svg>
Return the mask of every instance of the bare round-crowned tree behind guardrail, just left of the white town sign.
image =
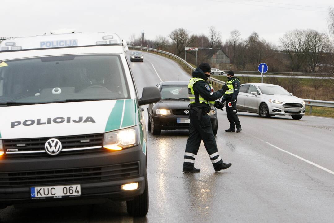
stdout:
<svg viewBox="0 0 334 223">
<path fill-rule="evenodd" d="M 174 29 L 169 37 L 176 43 L 177 55 L 184 52 L 184 47 L 194 42 L 194 36 L 189 36 L 189 32 L 183 28 Z"/>
</svg>

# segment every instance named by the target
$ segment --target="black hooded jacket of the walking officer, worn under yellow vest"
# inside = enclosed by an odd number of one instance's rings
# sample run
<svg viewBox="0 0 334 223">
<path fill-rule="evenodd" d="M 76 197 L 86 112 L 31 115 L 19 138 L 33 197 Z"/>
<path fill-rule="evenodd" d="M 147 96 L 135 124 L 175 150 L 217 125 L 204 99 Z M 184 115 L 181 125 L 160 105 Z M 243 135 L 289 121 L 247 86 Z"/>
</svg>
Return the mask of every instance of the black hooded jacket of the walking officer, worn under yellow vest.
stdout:
<svg viewBox="0 0 334 223">
<path fill-rule="evenodd" d="M 200 69 L 200 68 L 196 68 L 196 70 L 194 70 L 192 72 L 192 76 L 193 77 L 199 77 L 202 78 L 204 80 L 207 80 L 208 77 L 205 75 L 205 73 Z M 217 99 L 219 99 L 221 96 L 223 96 L 224 92 L 222 89 L 217 90 L 216 92 L 212 92 L 211 88 L 209 86 L 209 83 L 203 80 L 199 80 L 197 82 L 195 82 L 195 84 L 193 85 L 193 89 L 194 89 L 194 94 L 195 94 L 195 104 L 193 104 L 193 106 L 196 107 L 209 107 L 209 105 L 207 104 L 200 104 L 199 100 L 198 100 L 198 95 L 200 94 L 205 100 L 208 101 L 215 101 Z"/>
</svg>

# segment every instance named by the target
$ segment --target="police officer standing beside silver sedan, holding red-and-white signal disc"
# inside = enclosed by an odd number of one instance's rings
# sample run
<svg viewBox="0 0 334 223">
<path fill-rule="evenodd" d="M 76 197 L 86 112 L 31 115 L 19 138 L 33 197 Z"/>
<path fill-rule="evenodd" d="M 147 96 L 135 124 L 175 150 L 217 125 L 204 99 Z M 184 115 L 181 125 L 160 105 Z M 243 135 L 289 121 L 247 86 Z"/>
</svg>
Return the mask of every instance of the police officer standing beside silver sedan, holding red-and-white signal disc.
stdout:
<svg viewBox="0 0 334 223">
<path fill-rule="evenodd" d="M 236 115 L 236 100 L 239 93 L 240 80 L 237 77 L 234 77 L 234 72 L 232 70 L 227 72 L 226 85 L 228 90 L 225 91 L 223 98 L 221 99 L 221 103 L 226 102 L 226 113 L 227 119 L 230 123 L 230 128 L 226 129 L 225 132 L 241 132 L 241 125 L 239 122 L 239 118 Z"/>
</svg>

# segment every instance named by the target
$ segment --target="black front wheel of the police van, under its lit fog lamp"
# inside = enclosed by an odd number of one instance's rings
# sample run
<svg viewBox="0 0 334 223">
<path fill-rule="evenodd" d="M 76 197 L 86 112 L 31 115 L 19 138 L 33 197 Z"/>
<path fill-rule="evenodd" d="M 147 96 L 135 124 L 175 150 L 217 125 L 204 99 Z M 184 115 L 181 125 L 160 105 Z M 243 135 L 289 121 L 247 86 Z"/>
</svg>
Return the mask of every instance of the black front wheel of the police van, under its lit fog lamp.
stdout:
<svg viewBox="0 0 334 223">
<path fill-rule="evenodd" d="M 148 183 L 147 176 L 145 179 L 144 193 L 135 197 L 132 201 L 126 202 L 127 211 L 130 216 L 144 217 L 148 212 Z"/>
</svg>

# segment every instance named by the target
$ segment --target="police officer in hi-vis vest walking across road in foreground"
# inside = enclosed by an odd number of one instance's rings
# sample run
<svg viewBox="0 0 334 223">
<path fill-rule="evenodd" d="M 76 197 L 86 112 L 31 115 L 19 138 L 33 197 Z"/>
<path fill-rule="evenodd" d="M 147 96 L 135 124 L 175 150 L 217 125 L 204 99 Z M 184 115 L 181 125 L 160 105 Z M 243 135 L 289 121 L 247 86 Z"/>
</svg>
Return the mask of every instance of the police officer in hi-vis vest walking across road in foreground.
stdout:
<svg viewBox="0 0 334 223">
<path fill-rule="evenodd" d="M 193 78 L 190 79 L 188 84 L 190 127 L 183 162 L 183 172 L 186 173 L 200 172 L 200 169 L 194 167 L 194 163 L 202 140 L 215 171 L 227 169 L 232 165 L 231 163 L 223 163 L 218 154 L 210 118 L 207 114 L 211 109 L 210 106 L 215 106 L 222 110 L 223 104 L 215 100 L 223 96 L 228 87 L 224 85 L 222 89 L 214 92 L 211 84 L 207 82 L 210 76 L 210 69 L 211 67 L 208 63 L 200 64 L 192 72 Z"/>
</svg>

